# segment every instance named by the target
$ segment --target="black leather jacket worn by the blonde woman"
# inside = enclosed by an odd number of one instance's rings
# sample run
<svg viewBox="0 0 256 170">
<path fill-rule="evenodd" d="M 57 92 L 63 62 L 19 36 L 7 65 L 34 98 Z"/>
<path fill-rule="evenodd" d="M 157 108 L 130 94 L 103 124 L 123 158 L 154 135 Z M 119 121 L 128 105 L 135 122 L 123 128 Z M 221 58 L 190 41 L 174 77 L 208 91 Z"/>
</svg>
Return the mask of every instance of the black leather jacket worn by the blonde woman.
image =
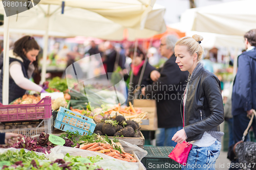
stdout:
<svg viewBox="0 0 256 170">
<path fill-rule="evenodd" d="M 188 79 L 187 86 L 186 141 L 201 139 L 205 131 L 220 131 L 224 108 L 219 79 L 202 67 L 193 78 Z"/>
</svg>

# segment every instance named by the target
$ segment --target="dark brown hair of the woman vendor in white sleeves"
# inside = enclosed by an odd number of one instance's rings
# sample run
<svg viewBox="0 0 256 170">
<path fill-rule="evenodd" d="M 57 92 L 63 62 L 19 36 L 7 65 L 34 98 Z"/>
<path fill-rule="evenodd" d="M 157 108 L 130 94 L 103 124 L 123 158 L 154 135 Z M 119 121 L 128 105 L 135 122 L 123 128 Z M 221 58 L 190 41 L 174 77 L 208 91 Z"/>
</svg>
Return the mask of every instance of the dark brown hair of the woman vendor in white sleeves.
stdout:
<svg viewBox="0 0 256 170">
<path fill-rule="evenodd" d="M 25 49 L 26 53 L 31 51 L 31 50 L 40 50 L 40 46 L 37 44 L 37 42 L 35 41 L 35 39 L 31 36 L 24 36 L 20 39 L 18 39 L 15 43 L 14 43 L 14 48 L 13 48 L 13 52 L 18 55 L 19 57 L 22 57 L 23 60 L 26 59 L 26 56 L 24 54 L 23 49 Z M 36 56 L 36 61 L 33 62 L 34 66 L 35 66 L 35 71 L 37 71 L 38 69 L 38 56 Z"/>
</svg>

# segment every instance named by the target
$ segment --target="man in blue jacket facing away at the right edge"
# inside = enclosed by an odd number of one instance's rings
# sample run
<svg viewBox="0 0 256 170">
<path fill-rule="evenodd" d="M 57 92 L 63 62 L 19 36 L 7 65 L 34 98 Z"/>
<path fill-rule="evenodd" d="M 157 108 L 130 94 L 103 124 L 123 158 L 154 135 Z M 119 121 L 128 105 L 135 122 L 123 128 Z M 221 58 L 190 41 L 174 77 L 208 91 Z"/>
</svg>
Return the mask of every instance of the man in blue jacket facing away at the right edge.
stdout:
<svg viewBox="0 0 256 170">
<path fill-rule="evenodd" d="M 256 109 L 256 29 L 248 31 L 244 38 L 247 50 L 238 57 L 238 71 L 232 90 L 234 143 L 242 140 L 250 121 L 248 116 L 252 115 L 252 109 Z M 256 136 L 255 117 L 252 127 Z"/>
</svg>

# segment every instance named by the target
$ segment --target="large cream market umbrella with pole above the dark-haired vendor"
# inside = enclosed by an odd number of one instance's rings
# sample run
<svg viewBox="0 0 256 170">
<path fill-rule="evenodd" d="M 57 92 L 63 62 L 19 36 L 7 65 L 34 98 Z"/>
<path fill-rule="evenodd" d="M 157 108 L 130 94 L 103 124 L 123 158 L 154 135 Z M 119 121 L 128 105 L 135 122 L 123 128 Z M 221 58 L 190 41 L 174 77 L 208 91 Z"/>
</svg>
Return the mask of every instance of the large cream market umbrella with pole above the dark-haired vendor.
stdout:
<svg viewBox="0 0 256 170">
<path fill-rule="evenodd" d="M 122 39 L 123 29 L 126 27 L 135 30 L 144 29 L 148 31 L 148 34 L 144 36 L 148 37 L 165 31 L 163 29 L 165 25 L 161 18 L 165 9 L 152 10 L 154 1 L 66 1 L 64 14 L 60 12 L 61 3 L 62 1 L 57 0 L 41 1 L 40 4 L 18 14 L 18 16 L 8 17 L 10 19 L 9 28 L 46 30 L 41 82 L 45 81 L 49 31 L 109 40 Z M 107 3 L 110 4 L 106 5 Z M 3 8 L 0 9 L 0 13 L 4 13 Z M 154 17 L 151 18 L 152 16 Z M 160 19 L 157 16 L 160 16 Z M 155 23 L 152 24 L 151 21 L 155 21 Z M 149 27 L 152 25 L 155 27 L 151 32 Z M 156 27 L 157 25 L 158 27 Z M 134 38 L 140 38 L 139 35 L 137 33 Z"/>
</svg>

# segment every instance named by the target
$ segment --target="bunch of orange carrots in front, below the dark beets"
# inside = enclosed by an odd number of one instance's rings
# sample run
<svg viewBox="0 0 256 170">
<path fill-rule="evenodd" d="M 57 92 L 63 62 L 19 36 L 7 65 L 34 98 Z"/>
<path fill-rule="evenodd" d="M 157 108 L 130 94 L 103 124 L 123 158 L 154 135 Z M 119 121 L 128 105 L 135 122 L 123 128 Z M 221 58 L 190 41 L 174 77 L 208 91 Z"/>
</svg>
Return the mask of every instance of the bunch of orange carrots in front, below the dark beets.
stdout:
<svg viewBox="0 0 256 170">
<path fill-rule="evenodd" d="M 88 151 L 96 151 L 99 153 L 103 153 L 105 155 L 111 156 L 113 158 L 124 160 L 127 162 L 137 162 L 137 160 L 133 157 L 132 154 L 129 153 L 120 153 L 118 150 L 114 150 L 110 144 L 94 142 L 89 144 L 80 145 L 80 149 L 88 150 Z"/>
</svg>

